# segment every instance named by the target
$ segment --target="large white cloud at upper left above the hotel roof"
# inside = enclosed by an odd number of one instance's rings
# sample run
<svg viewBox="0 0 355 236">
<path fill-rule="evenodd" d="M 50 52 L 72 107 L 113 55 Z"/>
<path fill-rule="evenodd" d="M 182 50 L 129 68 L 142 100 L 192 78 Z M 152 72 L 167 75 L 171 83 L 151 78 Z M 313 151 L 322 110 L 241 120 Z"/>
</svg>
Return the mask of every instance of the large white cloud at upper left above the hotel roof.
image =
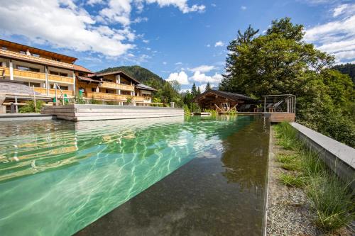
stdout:
<svg viewBox="0 0 355 236">
<path fill-rule="evenodd" d="M 6 1 L 0 5 L 0 22 L 5 35 L 24 35 L 32 42 L 70 50 L 119 56 L 134 47 L 121 42 L 133 38 L 128 29 L 95 27 L 94 18 L 70 0 Z"/>
</svg>

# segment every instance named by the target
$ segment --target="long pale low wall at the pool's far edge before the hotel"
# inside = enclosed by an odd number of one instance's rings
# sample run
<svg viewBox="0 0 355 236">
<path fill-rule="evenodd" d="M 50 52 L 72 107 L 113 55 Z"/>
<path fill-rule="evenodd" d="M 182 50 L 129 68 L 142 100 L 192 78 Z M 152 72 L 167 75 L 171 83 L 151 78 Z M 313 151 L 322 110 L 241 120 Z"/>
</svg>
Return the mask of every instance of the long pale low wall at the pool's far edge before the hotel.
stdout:
<svg viewBox="0 0 355 236">
<path fill-rule="evenodd" d="M 182 108 L 89 104 L 45 106 L 41 113 L 56 115 L 58 119 L 73 121 L 184 116 Z"/>
</svg>

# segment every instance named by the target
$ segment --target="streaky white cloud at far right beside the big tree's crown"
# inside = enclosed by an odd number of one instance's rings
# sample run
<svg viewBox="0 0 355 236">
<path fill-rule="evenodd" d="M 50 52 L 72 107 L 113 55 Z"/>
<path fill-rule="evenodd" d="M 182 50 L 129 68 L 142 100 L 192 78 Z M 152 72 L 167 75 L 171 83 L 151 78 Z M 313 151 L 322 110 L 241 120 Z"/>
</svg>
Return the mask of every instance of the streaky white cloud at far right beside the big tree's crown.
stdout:
<svg viewBox="0 0 355 236">
<path fill-rule="evenodd" d="M 355 4 L 337 6 L 333 16 L 340 19 L 306 29 L 305 40 L 335 55 L 336 62 L 355 59 Z"/>
</svg>

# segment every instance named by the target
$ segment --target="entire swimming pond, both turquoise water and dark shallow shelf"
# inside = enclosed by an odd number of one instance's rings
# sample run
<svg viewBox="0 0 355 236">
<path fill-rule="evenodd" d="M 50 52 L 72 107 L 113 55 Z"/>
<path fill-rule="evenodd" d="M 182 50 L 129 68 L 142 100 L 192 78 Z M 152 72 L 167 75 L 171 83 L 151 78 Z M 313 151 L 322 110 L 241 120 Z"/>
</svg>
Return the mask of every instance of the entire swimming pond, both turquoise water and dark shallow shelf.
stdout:
<svg viewBox="0 0 355 236">
<path fill-rule="evenodd" d="M 1 235 L 261 235 L 267 155 L 256 116 L 0 122 Z"/>
</svg>

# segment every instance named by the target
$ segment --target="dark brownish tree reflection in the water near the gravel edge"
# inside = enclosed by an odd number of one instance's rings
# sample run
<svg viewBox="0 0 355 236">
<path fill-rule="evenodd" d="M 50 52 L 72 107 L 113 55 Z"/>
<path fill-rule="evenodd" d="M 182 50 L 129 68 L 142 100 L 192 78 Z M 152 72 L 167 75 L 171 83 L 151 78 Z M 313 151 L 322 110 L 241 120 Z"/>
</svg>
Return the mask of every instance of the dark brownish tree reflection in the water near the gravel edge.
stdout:
<svg viewBox="0 0 355 236">
<path fill-rule="evenodd" d="M 222 155 L 223 176 L 231 183 L 239 184 L 241 190 L 263 193 L 266 183 L 268 160 L 268 132 L 262 123 L 251 123 L 249 127 L 227 137 Z"/>
</svg>

